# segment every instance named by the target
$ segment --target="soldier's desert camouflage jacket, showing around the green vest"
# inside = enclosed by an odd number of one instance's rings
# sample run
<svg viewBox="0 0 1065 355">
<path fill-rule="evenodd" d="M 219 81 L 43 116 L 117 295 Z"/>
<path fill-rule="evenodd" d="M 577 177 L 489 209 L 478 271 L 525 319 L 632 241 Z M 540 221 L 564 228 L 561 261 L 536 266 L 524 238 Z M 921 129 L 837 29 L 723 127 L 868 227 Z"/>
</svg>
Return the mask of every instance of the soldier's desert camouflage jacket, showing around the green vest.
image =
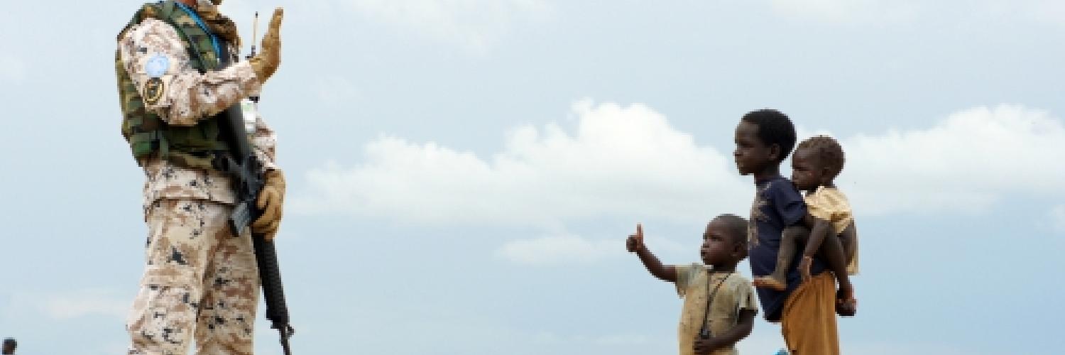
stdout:
<svg viewBox="0 0 1065 355">
<path fill-rule="evenodd" d="M 235 57 L 235 52 L 227 50 Z M 168 125 L 196 125 L 200 119 L 258 94 L 261 87 L 246 61 L 222 70 L 200 74 L 190 65 L 189 50 L 178 32 L 154 18 L 146 18 L 126 31 L 119 38 L 118 53 L 142 96 L 145 96 L 149 79 L 158 78 L 153 80 L 152 90 L 161 93 L 153 93 L 158 98 L 144 103 L 146 109 L 158 113 Z M 160 61 L 160 58 L 165 60 Z M 166 62 L 167 65 L 161 69 L 159 62 Z M 267 170 L 277 168 L 275 132 L 258 113 L 251 143 L 263 165 Z M 149 159 L 142 165 L 147 177 L 143 199 L 146 209 L 160 198 L 234 203 L 229 178 L 220 172 L 182 167 L 162 159 Z"/>
</svg>

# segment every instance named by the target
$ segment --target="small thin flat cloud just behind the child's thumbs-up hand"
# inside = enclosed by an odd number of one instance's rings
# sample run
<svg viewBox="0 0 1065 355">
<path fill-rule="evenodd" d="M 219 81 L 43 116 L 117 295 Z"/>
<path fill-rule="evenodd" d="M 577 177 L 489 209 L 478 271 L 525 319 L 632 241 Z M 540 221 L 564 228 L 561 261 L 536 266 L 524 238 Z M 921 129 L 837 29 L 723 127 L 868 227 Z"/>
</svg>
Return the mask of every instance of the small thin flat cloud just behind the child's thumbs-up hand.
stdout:
<svg viewBox="0 0 1065 355">
<path fill-rule="evenodd" d="M 648 238 L 648 245 L 656 252 L 679 253 L 684 247 L 661 238 Z M 694 249 L 692 246 L 690 249 Z M 623 238 L 588 240 L 573 235 L 550 236 L 538 239 L 513 240 L 495 251 L 495 256 L 518 264 L 556 265 L 594 263 L 607 258 L 624 257 Z"/>
</svg>

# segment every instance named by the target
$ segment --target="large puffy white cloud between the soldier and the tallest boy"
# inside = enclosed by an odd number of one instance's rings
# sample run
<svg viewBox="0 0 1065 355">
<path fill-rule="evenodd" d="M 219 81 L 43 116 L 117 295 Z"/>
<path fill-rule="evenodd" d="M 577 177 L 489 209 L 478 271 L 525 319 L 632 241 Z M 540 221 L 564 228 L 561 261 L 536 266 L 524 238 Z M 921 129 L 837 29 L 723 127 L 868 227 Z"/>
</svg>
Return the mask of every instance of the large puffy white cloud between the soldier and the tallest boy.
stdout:
<svg viewBox="0 0 1065 355">
<path fill-rule="evenodd" d="M 731 158 L 695 145 L 651 108 L 581 100 L 573 113 L 574 132 L 519 127 L 488 158 L 382 135 L 361 164 L 308 173 L 312 192 L 296 196 L 293 210 L 558 226 L 603 215 L 699 222 L 750 208 L 753 187 Z"/>
</svg>

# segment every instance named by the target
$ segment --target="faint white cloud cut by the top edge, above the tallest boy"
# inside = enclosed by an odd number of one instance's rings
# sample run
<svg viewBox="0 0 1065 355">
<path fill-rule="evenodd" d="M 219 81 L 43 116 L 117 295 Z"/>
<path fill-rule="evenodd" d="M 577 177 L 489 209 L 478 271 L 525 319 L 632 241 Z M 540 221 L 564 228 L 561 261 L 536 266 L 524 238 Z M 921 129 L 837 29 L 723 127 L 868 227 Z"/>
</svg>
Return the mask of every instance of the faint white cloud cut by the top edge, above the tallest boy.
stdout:
<svg viewBox="0 0 1065 355">
<path fill-rule="evenodd" d="M 920 3 L 908 0 L 771 0 L 777 14 L 828 23 L 880 23 L 914 19 Z"/>
</svg>

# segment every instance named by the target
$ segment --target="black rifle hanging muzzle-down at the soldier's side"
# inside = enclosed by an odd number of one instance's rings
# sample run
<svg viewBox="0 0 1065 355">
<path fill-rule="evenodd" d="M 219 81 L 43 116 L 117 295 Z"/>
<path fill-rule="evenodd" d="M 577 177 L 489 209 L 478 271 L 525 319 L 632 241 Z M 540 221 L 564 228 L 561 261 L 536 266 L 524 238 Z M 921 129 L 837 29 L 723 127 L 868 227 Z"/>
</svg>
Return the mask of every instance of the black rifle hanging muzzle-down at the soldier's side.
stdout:
<svg viewBox="0 0 1065 355">
<path fill-rule="evenodd" d="M 258 26 L 259 13 L 256 13 Z M 253 37 L 252 37 L 253 38 Z M 255 41 L 255 39 L 252 39 Z M 255 55 L 255 47 L 252 54 Z M 226 57 L 226 55 L 223 55 Z M 258 97 L 255 98 L 258 102 Z M 295 329 L 289 325 L 289 309 L 284 302 L 284 289 L 281 285 L 281 271 L 277 263 L 277 252 L 274 242 L 267 241 L 262 235 L 250 230 L 251 222 L 259 219 L 262 211 L 256 206 L 259 192 L 265 184 L 262 163 L 251 150 L 248 136 L 245 133 L 244 113 L 241 104 L 233 104 L 217 117 L 219 136 L 229 146 L 229 156 L 217 160 L 218 170 L 228 173 L 236 195 L 236 206 L 229 216 L 229 227 L 234 236 L 247 231 L 256 249 L 256 263 L 259 265 L 259 279 L 262 283 L 263 298 L 266 302 L 266 319 L 273 328 L 281 336 L 281 349 L 285 355 L 292 355 L 289 349 L 289 338 Z"/>
</svg>

